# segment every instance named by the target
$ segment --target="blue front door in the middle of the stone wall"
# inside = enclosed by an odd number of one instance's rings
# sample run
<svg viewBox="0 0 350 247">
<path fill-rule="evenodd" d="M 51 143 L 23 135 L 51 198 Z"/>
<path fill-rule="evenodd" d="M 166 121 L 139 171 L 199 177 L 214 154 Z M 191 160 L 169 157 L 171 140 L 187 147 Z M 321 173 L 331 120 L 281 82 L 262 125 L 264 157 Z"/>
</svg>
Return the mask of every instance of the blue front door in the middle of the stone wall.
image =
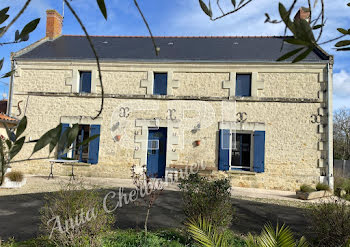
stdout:
<svg viewBox="0 0 350 247">
<path fill-rule="evenodd" d="M 167 128 L 148 131 L 147 175 L 163 178 L 166 165 Z"/>
</svg>

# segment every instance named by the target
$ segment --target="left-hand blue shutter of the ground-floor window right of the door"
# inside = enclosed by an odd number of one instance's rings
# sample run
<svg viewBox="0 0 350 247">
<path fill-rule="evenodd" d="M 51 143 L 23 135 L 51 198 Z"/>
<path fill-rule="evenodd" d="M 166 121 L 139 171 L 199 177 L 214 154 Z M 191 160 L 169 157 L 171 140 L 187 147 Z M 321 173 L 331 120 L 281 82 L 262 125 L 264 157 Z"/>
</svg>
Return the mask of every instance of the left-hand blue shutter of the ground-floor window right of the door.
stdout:
<svg viewBox="0 0 350 247">
<path fill-rule="evenodd" d="M 230 130 L 219 131 L 219 170 L 228 171 L 230 168 Z"/>
</svg>

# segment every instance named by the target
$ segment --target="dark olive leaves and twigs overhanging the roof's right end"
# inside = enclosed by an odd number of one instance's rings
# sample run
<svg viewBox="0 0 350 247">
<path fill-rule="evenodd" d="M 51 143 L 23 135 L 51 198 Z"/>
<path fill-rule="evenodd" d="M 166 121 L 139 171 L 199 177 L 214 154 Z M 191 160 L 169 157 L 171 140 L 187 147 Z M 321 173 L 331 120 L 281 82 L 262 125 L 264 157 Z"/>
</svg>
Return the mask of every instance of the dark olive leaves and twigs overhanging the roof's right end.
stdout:
<svg viewBox="0 0 350 247">
<path fill-rule="evenodd" d="M 253 4 L 254 0 L 227 0 L 231 1 L 232 8 L 229 11 L 224 11 L 221 7 L 220 0 L 198 0 L 199 5 L 202 8 L 203 12 L 208 15 L 210 20 L 216 21 L 220 18 L 223 18 L 225 16 L 231 15 L 235 12 L 238 12 L 248 4 Z M 220 10 L 219 15 L 214 16 L 213 10 L 212 10 L 212 1 L 214 4 L 218 6 L 218 9 Z M 308 6 L 305 11 L 310 12 L 310 19 L 308 20 L 302 20 L 302 19 L 291 19 L 291 14 L 295 12 L 295 6 L 297 3 L 304 3 L 306 6 Z M 271 19 L 270 15 L 268 13 L 265 13 L 266 20 L 265 23 L 270 24 L 277 24 L 277 23 L 284 23 L 285 25 L 285 31 L 284 34 L 286 35 L 289 31 L 293 37 L 286 37 L 284 39 L 284 42 L 289 44 L 298 45 L 300 47 L 296 48 L 293 51 L 290 51 L 286 54 L 283 54 L 280 58 L 277 59 L 277 61 L 283 61 L 290 57 L 294 56 L 293 63 L 302 61 L 305 59 L 310 52 L 319 46 L 322 46 L 326 43 L 330 43 L 333 41 L 338 42 L 335 44 L 335 49 L 337 51 L 350 51 L 350 27 L 339 27 L 337 28 L 337 31 L 339 32 L 339 35 L 337 37 L 334 37 L 330 40 L 320 42 L 320 39 L 323 34 L 323 29 L 326 25 L 326 17 L 325 17 L 325 0 L 293 0 L 291 2 L 291 5 L 287 8 L 282 3 L 278 3 L 278 13 L 279 17 L 278 19 Z M 331 1 L 327 1 L 328 4 L 331 4 Z M 350 7 L 350 3 L 346 3 L 344 1 L 344 8 Z M 350 14 L 350 8 L 345 9 L 344 11 L 348 11 Z M 314 13 L 316 12 L 316 13 Z M 348 23 L 347 23 L 348 24 Z M 348 24 L 349 25 L 349 24 Z M 283 48 L 283 45 L 281 49 Z"/>
</svg>

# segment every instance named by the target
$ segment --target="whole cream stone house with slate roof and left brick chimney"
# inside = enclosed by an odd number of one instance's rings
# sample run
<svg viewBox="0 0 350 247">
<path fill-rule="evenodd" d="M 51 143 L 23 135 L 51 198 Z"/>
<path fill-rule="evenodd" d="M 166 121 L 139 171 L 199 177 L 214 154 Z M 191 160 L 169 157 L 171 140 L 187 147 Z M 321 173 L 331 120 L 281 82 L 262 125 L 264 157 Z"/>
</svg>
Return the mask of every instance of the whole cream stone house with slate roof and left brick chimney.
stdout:
<svg viewBox="0 0 350 247">
<path fill-rule="evenodd" d="M 199 162 L 234 186 L 333 185 L 333 58 L 323 50 L 293 64 L 276 62 L 295 49 L 280 51 L 284 37 L 156 37 L 156 56 L 149 37 L 92 36 L 104 89 L 93 119 L 102 92 L 94 55 L 61 23 L 47 11 L 46 37 L 12 54 L 8 112 L 28 117 L 31 140 L 58 123 L 80 125 L 76 143 L 100 134 L 67 154 L 87 164 L 79 175 L 129 178 L 145 165 L 164 177 Z M 13 168 L 49 173 L 45 160 Z"/>
</svg>

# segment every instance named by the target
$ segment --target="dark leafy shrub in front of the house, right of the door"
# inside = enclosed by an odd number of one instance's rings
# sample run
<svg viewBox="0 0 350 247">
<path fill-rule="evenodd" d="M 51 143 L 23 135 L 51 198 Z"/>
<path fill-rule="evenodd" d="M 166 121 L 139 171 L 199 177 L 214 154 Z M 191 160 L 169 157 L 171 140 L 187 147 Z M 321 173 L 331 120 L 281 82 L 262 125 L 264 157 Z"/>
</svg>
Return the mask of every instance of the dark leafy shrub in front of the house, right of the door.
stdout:
<svg viewBox="0 0 350 247">
<path fill-rule="evenodd" d="M 209 181 L 198 174 L 191 174 L 180 180 L 179 188 L 188 219 L 196 220 L 201 216 L 219 228 L 226 228 L 231 224 L 234 212 L 231 185 L 227 179 Z"/>
</svg>

